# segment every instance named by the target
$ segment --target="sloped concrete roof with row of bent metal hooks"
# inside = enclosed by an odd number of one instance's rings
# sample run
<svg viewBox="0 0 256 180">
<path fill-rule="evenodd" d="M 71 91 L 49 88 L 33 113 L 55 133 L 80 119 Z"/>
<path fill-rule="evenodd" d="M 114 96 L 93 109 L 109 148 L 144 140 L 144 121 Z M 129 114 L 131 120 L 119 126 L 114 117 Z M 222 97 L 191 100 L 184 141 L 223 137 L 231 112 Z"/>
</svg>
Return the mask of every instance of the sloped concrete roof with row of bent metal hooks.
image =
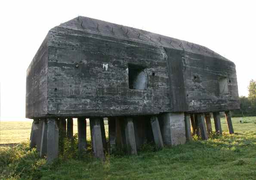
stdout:
<svg viewBox="0 0 256 180">
<path fill-rule="evenodd" d="M 220 60 L 230 61 L 227 58 L 222 57 L 221 55 L 202 45 L 175 39 L 168 36 L 163 36 L 156 33 L 151 33 L 133 27 L 127 27 L 83 16 L 78 16 L 77 18 L 60 24 L 59 26 L 52 28 L 50 31 L 56 32 L 58 31 L 58 28 L 85 31 L 86 33 L 92 34 L 101 34 L 102 36 L 111 36 L 114 38 L 126 39 L 164 48 L 184 50 L 185 52 L 201 54 L 204 56 L 215 57 Z"/>
</svg>

